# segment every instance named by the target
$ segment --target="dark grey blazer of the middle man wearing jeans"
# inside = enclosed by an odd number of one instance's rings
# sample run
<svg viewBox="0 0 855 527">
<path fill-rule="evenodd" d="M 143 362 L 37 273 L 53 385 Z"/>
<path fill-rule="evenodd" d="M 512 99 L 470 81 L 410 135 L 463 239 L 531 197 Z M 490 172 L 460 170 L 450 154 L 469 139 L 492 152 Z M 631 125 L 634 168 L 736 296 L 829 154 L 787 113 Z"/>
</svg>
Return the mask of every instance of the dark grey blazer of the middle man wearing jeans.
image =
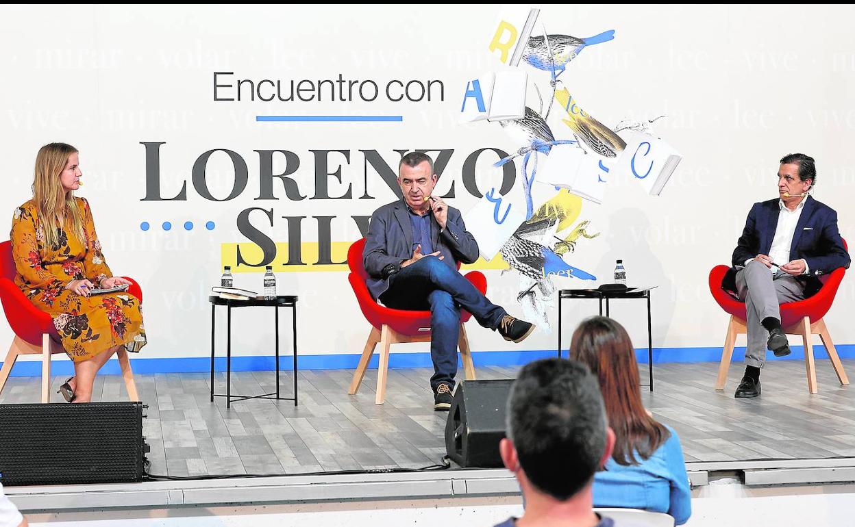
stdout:
<svg viewBox="0 0 855 527">
<path fill-rule="evenodd" d="M 457 208 L 448 208 L 445 230 L 431 216 L 433 250 L 445 256 L 445 264 L 457 270 L 457 261 L 478 260 L 478 242 L 466 231 L 463 216 Z M 400 270 L 401 262 L 413 255 L 413 225 L 404 198 L 388 203 L 371 215 L 369 233 L 365 237 L 363 266 L 369 273 L 368 286 L 377 299 L 389 289 L 389 277 Z"/>
</svg>

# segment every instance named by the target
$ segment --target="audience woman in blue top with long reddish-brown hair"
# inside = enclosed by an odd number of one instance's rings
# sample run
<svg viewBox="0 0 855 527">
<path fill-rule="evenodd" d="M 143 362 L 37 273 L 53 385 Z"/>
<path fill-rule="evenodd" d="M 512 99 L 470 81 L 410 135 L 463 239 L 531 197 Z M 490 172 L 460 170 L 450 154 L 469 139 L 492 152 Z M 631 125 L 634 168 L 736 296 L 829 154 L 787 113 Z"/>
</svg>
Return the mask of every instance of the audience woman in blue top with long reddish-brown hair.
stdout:
<svg viewBox="0 0 855 527">
<path fill-rule="evenodd" d="M 569 358 L 598 376 L 616 436 L 611 459 L 594 476 L 594 507 L 667 512 L 675 524 L 685 524 L 692 495 L 680 439 L 641 403 L 639 368 L 627 331 L 613 319 L 586 319 L 573 334 Z"/>
</svg>

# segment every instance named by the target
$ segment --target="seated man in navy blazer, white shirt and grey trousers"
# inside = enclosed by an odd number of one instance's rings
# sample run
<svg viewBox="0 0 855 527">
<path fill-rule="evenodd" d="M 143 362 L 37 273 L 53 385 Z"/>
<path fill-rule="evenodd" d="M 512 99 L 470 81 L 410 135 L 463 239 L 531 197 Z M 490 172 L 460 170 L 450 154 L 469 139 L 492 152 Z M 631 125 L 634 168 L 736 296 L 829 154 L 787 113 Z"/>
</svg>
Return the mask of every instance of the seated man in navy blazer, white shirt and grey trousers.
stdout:
<svg viewBox="0 0 855 527">
<path fill-rule="evenodd" d="M 746 302 L 748 332 L 746 372 L 736 397 L 760 395 L 767 347 L 778 357 L 790 354 L 779 304 L 815 294 L 822 287 L 818 277 L 849 266 L 837 213 L 808 195 L 815 184 L 811 156 L 785 155 L 778 169 L 780 197 L 754 203 L 734 249 L 722 288 Z"/>
</svg>

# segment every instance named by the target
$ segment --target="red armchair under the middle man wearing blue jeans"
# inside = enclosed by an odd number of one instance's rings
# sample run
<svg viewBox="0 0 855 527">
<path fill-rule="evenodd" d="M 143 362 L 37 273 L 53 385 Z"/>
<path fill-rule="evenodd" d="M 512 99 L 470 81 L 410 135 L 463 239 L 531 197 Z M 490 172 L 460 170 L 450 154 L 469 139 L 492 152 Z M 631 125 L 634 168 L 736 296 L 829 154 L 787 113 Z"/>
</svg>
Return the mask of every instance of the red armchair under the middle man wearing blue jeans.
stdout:
<svg viewBox="0 0 855 527">
<path fill-rule="evenodd" d="M 371 332 L 368 342 L 365 343 L 363 355 L 359 359 L 357 371 L 353 372 L 351 388 L 347 393 L 355 394 L 359 385 L 363 382 L 365 370 L 369 367 L 369 360 L 374 354 L 374 348 L 380 343 L 380 364 L 377 368 L 377 395 L 374 397 L 375 404 L 383 404 L 386 398 L 386 370 L 389 367 L 389 347 L 395 343 L 426 343 L 430 342 L 430 311 L 404 311 L 401 309 L 390 309 L 374 301 L 369 293 L 365 280 L 369 278 L 368 272 L 363 267 L 363 249 L 365 238 L 354 242 L 347 251 L 347 265 L 351 273 L 347 279 L 351 282 L 354 294 L 357 296 L 359 307 L 369 321 Z M 457 264 L 460 268 L 460 264 Z M 475 285 L 475 288 L 486 293 L 486 278 L 478 271 L 468 272 L 465 278 Z M 467 380 L 475 379 L 475 366 L 472 363 L 472 354 L 469 349 L 469 338 L 466 337 L 466 328 L 463 323 L 469 320 L 471 313 L 461 310 L 460 312 L 460 337 L 457 346 L 460 348 L 460 356 L 463 360 L 463 371 Z"/>
</svg>

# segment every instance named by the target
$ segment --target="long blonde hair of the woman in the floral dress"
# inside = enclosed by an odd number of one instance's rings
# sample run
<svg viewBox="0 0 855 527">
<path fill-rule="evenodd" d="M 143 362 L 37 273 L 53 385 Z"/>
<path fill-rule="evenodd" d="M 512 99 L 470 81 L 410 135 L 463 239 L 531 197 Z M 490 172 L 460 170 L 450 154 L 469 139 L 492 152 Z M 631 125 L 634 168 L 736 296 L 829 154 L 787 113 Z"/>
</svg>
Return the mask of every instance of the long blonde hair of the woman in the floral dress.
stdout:
<svg viewBox="0 0 855 527">
<path fill-rule="evenodd" d="M 44 242 L 50 249 L 59 248 L 56 225 L 60 217 L 71 219 L 72 229 L 80 243 L 85 244 L 83 213 L 74 200 L 74 192 L 62 188 L 59 176 L 68 164 L 68 157 L 77 153 L 70 144 L 50 143 L 38 149 L 35 175 L 32 179 L 32 201 L 36 203 L 38 220 L 44 231 Z"/>
</svg>

